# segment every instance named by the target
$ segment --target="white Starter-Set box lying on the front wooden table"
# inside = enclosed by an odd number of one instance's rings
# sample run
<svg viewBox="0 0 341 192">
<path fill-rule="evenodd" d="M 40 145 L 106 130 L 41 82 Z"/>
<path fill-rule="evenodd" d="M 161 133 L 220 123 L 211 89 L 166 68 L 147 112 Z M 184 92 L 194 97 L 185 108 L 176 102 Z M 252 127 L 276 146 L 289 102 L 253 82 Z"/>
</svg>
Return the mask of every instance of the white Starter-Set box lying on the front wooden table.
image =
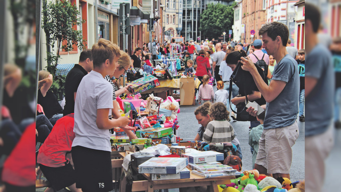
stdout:
<svg viewBox="0 0 341 192">
<path fill-rule="evenodd" d="M 138 166 L 138 173 L 177 174 L 187 165 L 187 158 L 153 157 Z"/>
</svg>

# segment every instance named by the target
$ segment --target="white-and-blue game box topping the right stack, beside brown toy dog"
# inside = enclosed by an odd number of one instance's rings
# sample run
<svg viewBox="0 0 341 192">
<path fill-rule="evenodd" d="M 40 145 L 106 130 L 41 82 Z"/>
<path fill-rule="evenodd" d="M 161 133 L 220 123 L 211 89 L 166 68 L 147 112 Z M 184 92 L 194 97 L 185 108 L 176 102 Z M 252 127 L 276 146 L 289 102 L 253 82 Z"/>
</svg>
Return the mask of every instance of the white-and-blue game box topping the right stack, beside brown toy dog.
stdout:
<svg viewBox="0 0 341 192">
<path fill-rule="evenodd" d="M 191 153 L 182 153 L 181 157 L 188 158 L 189 163 L 206 163 L 212 161 L 223 161 L 224 153 L 216 151 L 196 151 Z"/>
</svg>

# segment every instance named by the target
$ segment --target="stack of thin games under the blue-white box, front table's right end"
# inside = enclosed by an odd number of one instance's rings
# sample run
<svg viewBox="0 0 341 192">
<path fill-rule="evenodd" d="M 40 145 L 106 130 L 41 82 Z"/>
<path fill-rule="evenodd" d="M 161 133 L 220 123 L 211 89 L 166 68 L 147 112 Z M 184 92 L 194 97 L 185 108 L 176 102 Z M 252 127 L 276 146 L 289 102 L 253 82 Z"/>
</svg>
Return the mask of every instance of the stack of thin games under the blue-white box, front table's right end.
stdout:
<svg viewBox="0 0 341 192">
<path fill-rule="evenodd" d="M 188 163 L 187 167 L 192 170 L 192 174 L 204 178 L 240 175 L 240 172 L 237 172 L 236 169 L 217 161 L 197 164 Z"/>
</svg>

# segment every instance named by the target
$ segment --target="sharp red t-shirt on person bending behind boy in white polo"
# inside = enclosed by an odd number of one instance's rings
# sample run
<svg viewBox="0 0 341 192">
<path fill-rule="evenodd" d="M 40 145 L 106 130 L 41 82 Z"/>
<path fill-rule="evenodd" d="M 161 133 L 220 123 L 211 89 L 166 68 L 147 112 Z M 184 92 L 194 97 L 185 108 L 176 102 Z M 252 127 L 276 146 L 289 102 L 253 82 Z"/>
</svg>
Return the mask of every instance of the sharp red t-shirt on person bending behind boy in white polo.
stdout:
<svg viewBox="0 0 341 192">
<path fill-rule="evenodd" d="M 48 167 L 61 167 L 69 163 L 66 153 L 71 151 L 75 133 L 73 113 L 60 118 L 40 147 L 37 163 Z"/>
</svg>

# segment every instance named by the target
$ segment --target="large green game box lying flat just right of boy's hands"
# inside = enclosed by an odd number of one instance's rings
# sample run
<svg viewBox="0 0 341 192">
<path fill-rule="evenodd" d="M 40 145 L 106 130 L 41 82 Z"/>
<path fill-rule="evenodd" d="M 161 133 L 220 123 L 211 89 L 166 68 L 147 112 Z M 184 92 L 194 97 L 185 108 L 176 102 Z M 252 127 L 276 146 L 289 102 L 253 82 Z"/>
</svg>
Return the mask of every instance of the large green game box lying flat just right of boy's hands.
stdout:
<svg viewBox="0 0 341 192">
<path fill-rule="evenodd" d="M 171 127 L 151 127 L 136 131 L 136 136 L 139 138 L 160 138 L 170 134 L 173 134 Z"/>
</svg>

